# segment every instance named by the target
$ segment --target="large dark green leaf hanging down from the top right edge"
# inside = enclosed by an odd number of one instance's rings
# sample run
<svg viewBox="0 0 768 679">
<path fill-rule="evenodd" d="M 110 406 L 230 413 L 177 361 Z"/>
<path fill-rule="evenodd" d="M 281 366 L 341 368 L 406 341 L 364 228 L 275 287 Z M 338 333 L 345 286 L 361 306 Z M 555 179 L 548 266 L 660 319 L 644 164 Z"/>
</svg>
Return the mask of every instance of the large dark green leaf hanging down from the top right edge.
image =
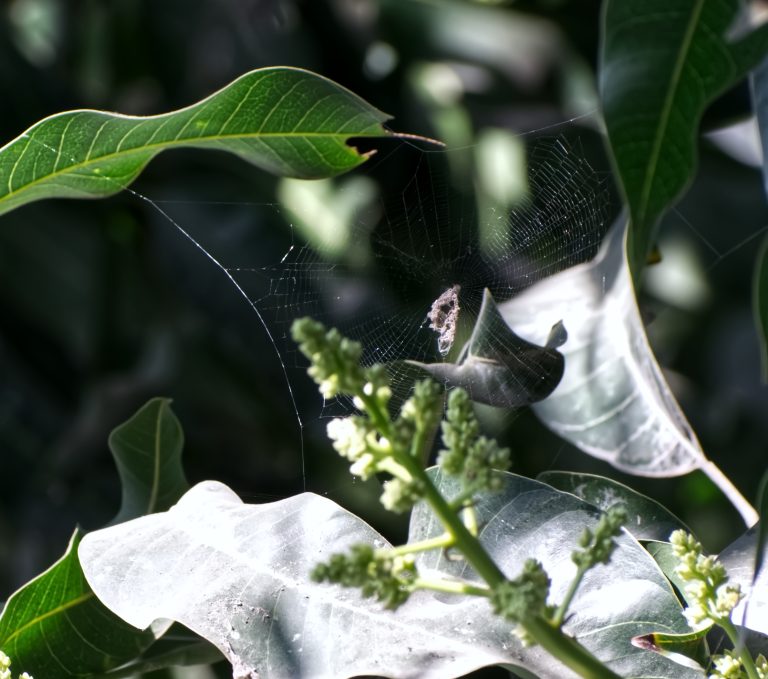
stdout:
<svg viewBox="0 0 768 679">
<path fill-rule="evenodd" d="M 768 26 L 735 34 L 739 0 L 606 0 L 599 86 L 629 206 L 635 278 L 661 215 L 696 166 L 707 106 L 768 51 Z"/>
</svg>

